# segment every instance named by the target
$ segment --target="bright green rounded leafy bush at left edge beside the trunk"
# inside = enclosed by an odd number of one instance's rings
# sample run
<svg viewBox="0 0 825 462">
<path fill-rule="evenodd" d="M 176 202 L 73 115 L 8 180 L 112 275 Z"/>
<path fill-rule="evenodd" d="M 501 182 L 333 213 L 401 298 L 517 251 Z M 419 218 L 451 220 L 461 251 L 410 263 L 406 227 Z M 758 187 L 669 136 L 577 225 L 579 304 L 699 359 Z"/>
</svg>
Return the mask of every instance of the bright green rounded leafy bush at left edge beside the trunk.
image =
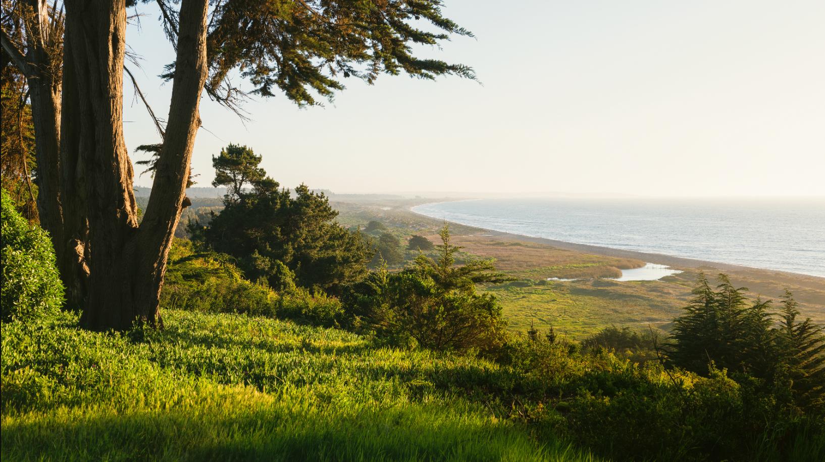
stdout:
<svg viewBox="0 0 825 462">
<path fill-rule="evenodd" d="M 49 235 L 40 227 L 29 225 L 5 190 L 2 190 L 0 223 L 0 319 L 30 322 L 54 315 L 63 304 L 64 287 L 54 265 Z"/>
</svg>

